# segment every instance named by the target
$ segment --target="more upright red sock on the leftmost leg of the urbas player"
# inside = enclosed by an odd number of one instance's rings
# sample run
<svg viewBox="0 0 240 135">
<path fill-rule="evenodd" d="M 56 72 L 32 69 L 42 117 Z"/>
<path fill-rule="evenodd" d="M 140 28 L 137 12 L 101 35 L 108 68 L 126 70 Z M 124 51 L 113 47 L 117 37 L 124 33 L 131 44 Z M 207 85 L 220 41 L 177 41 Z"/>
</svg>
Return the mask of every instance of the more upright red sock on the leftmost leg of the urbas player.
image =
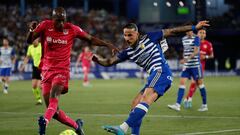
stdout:
<svg viewBox="0 0 240 135">
<path fill-rule="evenodd" d="M 45 112 L 44 118 L 50 122 L 53 115 L 56 113 L 58 107 L 58 99 L 57 98 L 50 98 L 49 99 L 49 105 Z"/>
</svg>

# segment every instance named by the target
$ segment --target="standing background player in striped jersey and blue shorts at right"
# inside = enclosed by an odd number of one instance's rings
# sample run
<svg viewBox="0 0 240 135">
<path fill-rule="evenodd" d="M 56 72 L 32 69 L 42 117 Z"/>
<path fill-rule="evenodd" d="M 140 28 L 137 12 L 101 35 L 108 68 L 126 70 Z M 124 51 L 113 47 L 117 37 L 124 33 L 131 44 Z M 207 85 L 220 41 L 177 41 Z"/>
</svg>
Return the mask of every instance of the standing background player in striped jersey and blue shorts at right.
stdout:
<svg viewBox="0 0 240 135">
<path fill-rule="evenodd" d="M 182 38 L 183 43 L 183 70 L 180 78 L 180 85 L 178 89 L 178 97 L 176 104 L 168 105 L 170 109 L 180 111 L 182 98 L 186 89 L 187 79 L 193 78 L 200 89 L 202 96 L 202 106 L 198 111 L 207 111 L 207 94 L 203 84 L 203 73 L 200 63 L 200 38 L 193 33 L 193 31 L 186 32 L 186 36 Z M 187 105 L 185 105 L 187 108 Z"/>
</svg>

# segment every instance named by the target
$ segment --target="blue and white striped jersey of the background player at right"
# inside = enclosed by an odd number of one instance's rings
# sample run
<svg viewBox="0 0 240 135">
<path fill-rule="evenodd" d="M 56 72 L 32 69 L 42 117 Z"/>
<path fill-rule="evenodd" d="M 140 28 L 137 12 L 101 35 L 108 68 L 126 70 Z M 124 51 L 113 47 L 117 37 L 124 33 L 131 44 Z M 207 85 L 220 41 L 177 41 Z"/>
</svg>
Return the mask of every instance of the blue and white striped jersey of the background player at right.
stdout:
<svg viewBox="0 0 240 135">
<path fill-rule="evenodd" d="M 183 43 L 183 57 L 188 58 L 194 52 L 194 47 L 200 46 L 200 39 L 196 35 L 192 37 L 184 36 L 182 38 L 182 43 Z M 193 58 L 189 59 L 187 62 L 185 62 L 184 67 L 185 68 L 199 67 L 200 66 L 199 53 L 195 55 Z"/>
</svg>

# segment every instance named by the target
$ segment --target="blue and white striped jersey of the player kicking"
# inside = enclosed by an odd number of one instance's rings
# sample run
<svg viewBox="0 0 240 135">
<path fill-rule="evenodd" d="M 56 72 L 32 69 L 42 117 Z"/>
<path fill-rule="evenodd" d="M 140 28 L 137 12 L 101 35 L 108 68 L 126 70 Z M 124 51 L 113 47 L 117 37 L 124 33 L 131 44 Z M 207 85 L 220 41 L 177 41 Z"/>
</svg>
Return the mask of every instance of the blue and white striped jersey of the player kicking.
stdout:
<svg viewBox="0 0 240 135">
<path fill-rule="evenodd" d="M 147 33 L 139 39 L 135 48 L 126 48 L 118 54 L 118 58 L 135 62 L 148 73 L 165 70 L 163 68 L 169 70 L 159 42 L 162 39 L 162 31 Z"/>
</svg>

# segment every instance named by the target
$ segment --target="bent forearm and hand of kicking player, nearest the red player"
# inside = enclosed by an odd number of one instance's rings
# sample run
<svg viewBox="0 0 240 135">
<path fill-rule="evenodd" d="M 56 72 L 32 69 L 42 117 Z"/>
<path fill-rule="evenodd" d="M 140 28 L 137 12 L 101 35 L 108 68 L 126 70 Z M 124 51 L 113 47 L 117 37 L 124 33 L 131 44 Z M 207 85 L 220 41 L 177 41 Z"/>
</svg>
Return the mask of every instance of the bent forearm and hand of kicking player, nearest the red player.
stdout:
<svg viewBox="0 0 240 135">
<path fill-rule="evenodd" d="M 92 56 L 92 61 L 98 63 L 99 65 L 105 66 L 105 67 L 112 66 L 112 65 L 115 65 L 115 64 L 121 62 L 117 56 L 113 56 L 109 59 L 104 59 L 96 54 L 94 54 Z"/>
</svg>

